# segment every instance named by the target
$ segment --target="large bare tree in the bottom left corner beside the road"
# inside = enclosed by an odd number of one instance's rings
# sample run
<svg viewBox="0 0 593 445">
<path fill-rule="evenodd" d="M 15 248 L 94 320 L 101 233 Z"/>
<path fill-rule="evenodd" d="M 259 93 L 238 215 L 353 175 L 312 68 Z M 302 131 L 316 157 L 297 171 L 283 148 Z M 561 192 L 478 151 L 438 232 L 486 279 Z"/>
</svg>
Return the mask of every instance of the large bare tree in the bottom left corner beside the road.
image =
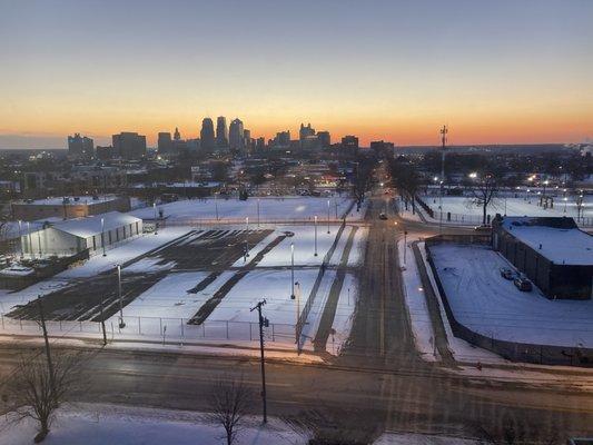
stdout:
<svg viewBox="0 0 593 445">
<path fill-rule="evenodd" d="M 80 382 L 80 356 L 53 353 L 52 366 L 43 354 L 22 356 L 11 378 L 6 384 L 3 399 L 14 419 L 32 418 L 39 424 L 34 442 L 42 442 L 49 433 L 56 409 L 69 392 Z"/>
</svg>

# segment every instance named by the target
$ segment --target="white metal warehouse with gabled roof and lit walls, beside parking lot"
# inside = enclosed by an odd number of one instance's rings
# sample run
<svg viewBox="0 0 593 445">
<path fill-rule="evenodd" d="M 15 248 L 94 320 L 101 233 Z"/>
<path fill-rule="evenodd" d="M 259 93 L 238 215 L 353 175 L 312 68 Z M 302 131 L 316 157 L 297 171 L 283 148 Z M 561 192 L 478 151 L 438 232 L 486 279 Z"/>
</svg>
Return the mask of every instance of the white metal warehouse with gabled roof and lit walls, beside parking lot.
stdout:
<svg viewBox="0 0 593 445">
<path fill-rule="evenodd" d="M 22 235 L 21 248 L 31 257 L 70 256 L 86 249 L 93 255 L 141 234 L 140 218 L 110 211 L 46 225 L 41 230 Z"/>
</svg>

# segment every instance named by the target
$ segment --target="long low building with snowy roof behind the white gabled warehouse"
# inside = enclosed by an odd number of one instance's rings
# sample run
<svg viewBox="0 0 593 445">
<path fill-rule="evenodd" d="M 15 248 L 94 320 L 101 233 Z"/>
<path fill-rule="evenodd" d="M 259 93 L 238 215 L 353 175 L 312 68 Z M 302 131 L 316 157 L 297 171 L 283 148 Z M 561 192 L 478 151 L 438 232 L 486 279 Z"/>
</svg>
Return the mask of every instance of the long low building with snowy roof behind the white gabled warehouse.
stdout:
<svg viewBox="0 0 593 445">
<path fill-rule="evenodd" d="M 70 219 L 129 210 L 130 198 L 115 195 L 27 199 L 12 204 L 12 219 L 23 221 L 47 218 Z"/>
</svg>

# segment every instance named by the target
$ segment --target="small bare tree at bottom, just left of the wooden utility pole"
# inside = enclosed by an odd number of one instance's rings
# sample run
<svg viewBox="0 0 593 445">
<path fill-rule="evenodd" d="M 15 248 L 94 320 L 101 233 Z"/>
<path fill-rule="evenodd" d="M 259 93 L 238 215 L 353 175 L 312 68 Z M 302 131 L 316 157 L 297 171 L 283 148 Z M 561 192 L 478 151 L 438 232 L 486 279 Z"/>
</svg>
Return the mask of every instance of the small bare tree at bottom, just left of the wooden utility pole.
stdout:
<svg viewBox="0 0 593 445">
<path fill-rule="evenodd" d="M 253 402 L 253 392 L 241 378 L 221 377 L 215 382 L 208 403 L 211 422 L 225 428 L 227 445 L 233 445 Z"/>
</svg>

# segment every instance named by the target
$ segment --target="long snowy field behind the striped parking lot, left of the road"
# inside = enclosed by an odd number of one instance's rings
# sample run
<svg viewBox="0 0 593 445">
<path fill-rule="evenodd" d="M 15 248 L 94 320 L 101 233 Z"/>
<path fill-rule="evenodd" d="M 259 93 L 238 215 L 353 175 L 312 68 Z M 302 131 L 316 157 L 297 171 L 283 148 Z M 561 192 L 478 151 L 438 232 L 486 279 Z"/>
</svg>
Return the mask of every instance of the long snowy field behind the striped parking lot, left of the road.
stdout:
<svg viewBox="0 0 593 445">
<path fill-rule="evenodd" d="M 259 201 L 259 219 L 265 220 L 314 220 L 317 215 L 319 224 L 327 220 L 329 200 L 329 218 L 342 218 L 349 208 L 353 200 L 350 198 L 314 198 L 314 197 L 285 197 L 285 198 L 249 198 L 240 201 L 237 198 L 208 198 L 190 199 L 169 202 L 158 206 L 162 210 L 164 217 L 170 219 L 209 219 L 215 220 L 218 208 L 218 217 L 221 220 L 244 220 L 249 218 L 250 224 L 257 224 L 257 208 Z M 138 218 L 151 219 L 155 210 L 142 208 L 132 210 L 130 215 Z M 356 209 L 348 215 L 349 219 L 359 219 L 364 211 L 356 212 Z"/>
</svg>

